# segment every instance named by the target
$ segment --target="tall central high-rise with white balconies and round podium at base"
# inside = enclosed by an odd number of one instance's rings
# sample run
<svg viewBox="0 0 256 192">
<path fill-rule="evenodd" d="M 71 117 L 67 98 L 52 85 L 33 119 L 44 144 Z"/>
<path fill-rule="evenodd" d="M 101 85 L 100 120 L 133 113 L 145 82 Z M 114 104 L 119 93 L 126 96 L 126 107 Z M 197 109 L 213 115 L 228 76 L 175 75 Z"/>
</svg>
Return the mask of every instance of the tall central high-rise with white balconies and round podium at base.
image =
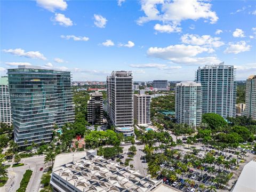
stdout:
<svg viewBox="0 0 256 192">
<path fill-rule="evenodd" d="M 133 125 L 132 71 L 113 71 L 107 77 L 107 102 L 108 114 L 115 126 Z"/>
</svg>

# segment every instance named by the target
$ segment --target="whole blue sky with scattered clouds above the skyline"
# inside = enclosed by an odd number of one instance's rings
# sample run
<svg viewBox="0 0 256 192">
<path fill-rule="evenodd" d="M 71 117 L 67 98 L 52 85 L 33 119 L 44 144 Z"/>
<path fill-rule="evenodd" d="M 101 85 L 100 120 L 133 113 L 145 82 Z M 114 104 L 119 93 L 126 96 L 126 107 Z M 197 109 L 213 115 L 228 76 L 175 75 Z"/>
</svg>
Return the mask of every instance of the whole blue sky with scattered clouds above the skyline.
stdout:
<svg viewBox="0 0 256 192">
<path fill-rule="evenodd" d="M 193 80 L 225 62 L 256 74 L 256 1 L 1 1 L 0 73 L 18 65 L 70 70 L 74 81 Z"/>
</svg>

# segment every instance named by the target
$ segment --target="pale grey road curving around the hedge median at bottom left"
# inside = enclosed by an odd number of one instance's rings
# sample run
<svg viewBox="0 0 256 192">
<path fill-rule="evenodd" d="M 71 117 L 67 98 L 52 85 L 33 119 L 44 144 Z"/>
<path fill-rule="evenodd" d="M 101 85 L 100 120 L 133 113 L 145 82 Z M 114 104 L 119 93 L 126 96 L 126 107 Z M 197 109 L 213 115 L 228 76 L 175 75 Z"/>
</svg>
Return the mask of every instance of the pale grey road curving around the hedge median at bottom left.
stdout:
<svg viewBox="0 0 256 192">
<path fill-rule="evenodd" d="M 42 174 L 44 172 L 44 170 L 40 171 L 41 167 L 45 167 L 44 157 L 45 156 L 42 155 L 42 156 L 23 158 L 21 159 L 20 163 L 24 163 L 25 165 L 19 166 L 19 167 L 10 167 L 9 180 L 7 181 L 4 187 L 0 188 L 0 191 L 1 192 L 16 191 L 20 187 L 20 181 L 23 177 L 23 174 L 26 172 L 26 170 L 30 169 L 33 171 L 33 174 L 31 175 L 26 191 L 37 192 L 39 189 Z"/>
</svg>

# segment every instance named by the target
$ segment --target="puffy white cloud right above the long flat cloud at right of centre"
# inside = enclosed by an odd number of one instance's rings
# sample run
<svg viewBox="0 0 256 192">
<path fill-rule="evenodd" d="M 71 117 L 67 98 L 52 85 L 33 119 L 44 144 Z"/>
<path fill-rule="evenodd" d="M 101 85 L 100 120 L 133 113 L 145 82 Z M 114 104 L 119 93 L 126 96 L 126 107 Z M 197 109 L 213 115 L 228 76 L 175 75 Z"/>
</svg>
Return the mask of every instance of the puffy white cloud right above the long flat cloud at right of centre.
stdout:
<svg viewBox="0 0 256 192">
<path fill-rule="evenodd" d="M 199 36 L 193 34 L 185 34 L 181 37 L 182 43 L 192 45 L 205 45 L 209 47 L 220 47 L 225 44 L 219 40 L 219 37 L 211 37 L 210 35 Z"/>
</svg>

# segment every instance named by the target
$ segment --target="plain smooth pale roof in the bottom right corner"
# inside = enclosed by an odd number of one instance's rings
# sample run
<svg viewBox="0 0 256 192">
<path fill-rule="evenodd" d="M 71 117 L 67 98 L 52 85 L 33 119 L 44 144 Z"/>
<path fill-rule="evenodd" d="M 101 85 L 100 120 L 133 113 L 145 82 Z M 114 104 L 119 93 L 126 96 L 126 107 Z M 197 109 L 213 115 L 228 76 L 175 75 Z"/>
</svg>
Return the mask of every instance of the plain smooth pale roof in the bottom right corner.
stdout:
<svg viewBox="0 0 256 192">
<path fill-rule="evenodd" d="M 233 192 L 256 191 L 256 162 L 251 161 L 244 166 Z"/>
</svg>

